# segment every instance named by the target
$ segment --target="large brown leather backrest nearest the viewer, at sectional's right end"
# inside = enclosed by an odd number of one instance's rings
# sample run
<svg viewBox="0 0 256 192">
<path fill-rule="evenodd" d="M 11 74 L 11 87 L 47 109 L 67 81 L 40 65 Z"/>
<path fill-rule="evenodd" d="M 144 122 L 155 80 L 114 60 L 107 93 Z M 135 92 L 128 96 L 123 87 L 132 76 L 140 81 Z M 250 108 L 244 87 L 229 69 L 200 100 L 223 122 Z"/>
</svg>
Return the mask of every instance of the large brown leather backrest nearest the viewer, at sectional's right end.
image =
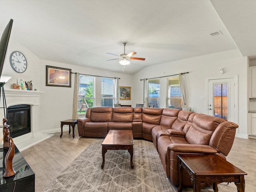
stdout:
<svg viewBox="0 0 256 192">
<path fill-rule="evenodd" d="M 226 120 L 206 114 L 196 114 L 186 133 L 186 140 L 190 144 L 209 145 L 212 133 L 217 126 Z"/>
</svg>

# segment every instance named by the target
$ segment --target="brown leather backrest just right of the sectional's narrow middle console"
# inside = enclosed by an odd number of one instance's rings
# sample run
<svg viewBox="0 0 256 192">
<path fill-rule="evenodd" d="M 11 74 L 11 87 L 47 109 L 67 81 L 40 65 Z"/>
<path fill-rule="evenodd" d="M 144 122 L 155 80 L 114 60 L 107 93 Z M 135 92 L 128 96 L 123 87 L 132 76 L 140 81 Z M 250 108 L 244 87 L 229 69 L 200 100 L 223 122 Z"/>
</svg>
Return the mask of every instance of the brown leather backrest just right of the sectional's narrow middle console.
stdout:
<svg viewBox="0 0 256 192">
<path fill-rule="evenodd" d="M 159 125 L 162 111 L 159 108 L 142 108 L 142 122 Z"/>
</svg>

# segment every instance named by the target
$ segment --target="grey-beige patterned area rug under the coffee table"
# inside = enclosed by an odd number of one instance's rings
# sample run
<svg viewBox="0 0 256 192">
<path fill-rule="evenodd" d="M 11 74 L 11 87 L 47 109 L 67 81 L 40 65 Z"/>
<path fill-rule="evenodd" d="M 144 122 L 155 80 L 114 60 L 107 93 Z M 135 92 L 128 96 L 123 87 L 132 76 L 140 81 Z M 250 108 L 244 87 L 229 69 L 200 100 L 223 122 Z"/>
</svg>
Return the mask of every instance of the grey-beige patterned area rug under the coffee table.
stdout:
<svg viewBox="0 0 256 192">
<path fill-rule="evenodd" d="M 175 192 L 152 142 L 134 140 L 134 169 L 128 150 L 108 150 L 102 139 L 88 146 L 44 192 Z"/>
</svg>

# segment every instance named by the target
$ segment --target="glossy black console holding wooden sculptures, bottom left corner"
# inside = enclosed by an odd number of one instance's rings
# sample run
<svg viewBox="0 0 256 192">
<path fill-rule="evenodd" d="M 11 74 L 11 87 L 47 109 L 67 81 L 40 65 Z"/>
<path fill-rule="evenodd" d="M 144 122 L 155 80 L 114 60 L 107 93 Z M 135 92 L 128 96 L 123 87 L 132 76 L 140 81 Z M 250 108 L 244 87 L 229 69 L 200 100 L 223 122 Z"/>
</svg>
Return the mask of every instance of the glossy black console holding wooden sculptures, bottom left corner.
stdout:
<svg viewBox="0 0 256 192">
<path fill-rule="evenodd" d="M 12 166 L 16 174 L 9 178 L 3 178 L 5 171 L 4 157 L 8 149 L 0 146 L 0 192 L 34 192 L 35 174 L 30 168 L 20 151 L 15 146 L 15 155 L 12 159 Z"/>
</svg>

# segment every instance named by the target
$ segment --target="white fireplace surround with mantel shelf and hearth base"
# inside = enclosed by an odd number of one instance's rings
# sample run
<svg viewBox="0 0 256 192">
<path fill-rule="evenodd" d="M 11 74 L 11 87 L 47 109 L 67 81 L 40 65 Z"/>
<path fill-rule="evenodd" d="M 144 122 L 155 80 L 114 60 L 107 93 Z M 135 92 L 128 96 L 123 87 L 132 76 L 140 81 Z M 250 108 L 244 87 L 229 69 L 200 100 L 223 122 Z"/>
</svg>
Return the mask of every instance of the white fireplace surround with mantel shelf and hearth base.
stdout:
<svg viewBox="0 0 256 192">
<path fill-rule="evenodd" d="M 14 143 L 20 151 L 33 146 L 47 138 L 53 136 L 53 134 L 42 134 L 40 132 L 40 100 L 42 91 L 30 91 L 30 90 L 17 90 L 17 89 L 4 89 L 6 98 L 6 107 L 28 104 L 30 105 L 31 116 L 31 132 L 14 138 Z M 4 113 L 1 108 L 3 107 L 3 95 L 0 94 L 0 117 L 4 117 Z M 1 116 L 2 115 L 2 116 Z M 2 131 L 2 130 L 0 130 Z"/>
</svg>

